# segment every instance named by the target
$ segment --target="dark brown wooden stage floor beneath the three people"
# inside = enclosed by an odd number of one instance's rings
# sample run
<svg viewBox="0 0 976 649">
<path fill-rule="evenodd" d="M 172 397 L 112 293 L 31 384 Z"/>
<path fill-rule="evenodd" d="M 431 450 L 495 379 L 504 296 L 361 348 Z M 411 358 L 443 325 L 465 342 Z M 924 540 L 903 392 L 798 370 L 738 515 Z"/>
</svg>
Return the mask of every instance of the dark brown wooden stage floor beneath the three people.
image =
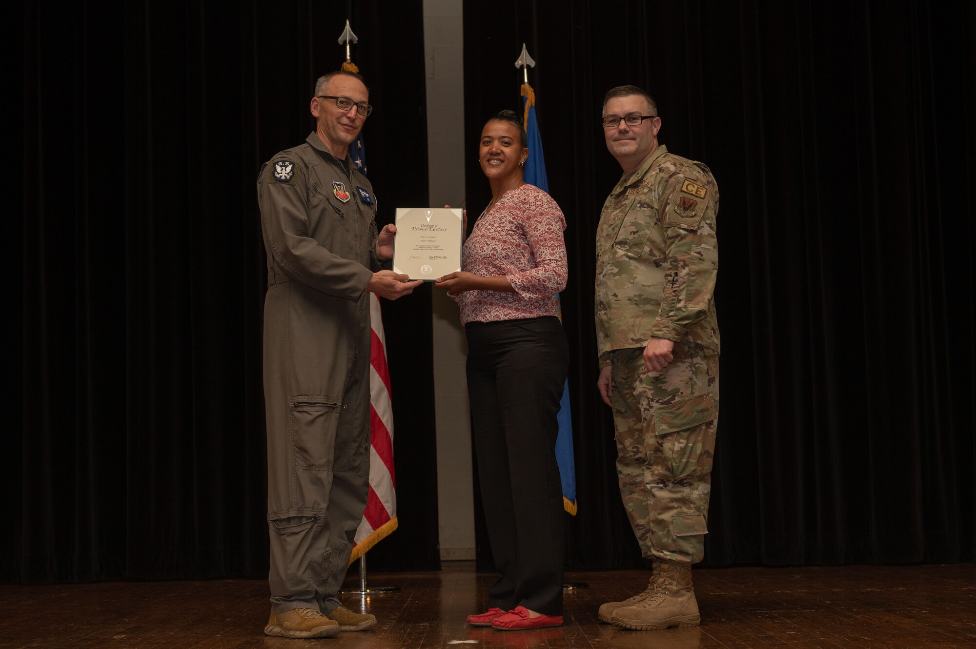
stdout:
<svg viewBox="0 0 976 649">
<path fill-rule="evenodd" d="M 646 585 L 646 573 L 615 571 L 567 574 L 590 587 L 566 592 L 562 628 L 495 631 L 465 624 L 484 609 L 491 575 L 376 574 L 369 585 L 402 590 L 345 598 L 374 613 L 377 628 L 320 640 L 264 636 L 263 581 L 0 585 L 0 647 L 976 647 L 976 564 L 703 568 L 694 576 L 698 628 L 599 624 L 602 602 Z"/>
</svg>

